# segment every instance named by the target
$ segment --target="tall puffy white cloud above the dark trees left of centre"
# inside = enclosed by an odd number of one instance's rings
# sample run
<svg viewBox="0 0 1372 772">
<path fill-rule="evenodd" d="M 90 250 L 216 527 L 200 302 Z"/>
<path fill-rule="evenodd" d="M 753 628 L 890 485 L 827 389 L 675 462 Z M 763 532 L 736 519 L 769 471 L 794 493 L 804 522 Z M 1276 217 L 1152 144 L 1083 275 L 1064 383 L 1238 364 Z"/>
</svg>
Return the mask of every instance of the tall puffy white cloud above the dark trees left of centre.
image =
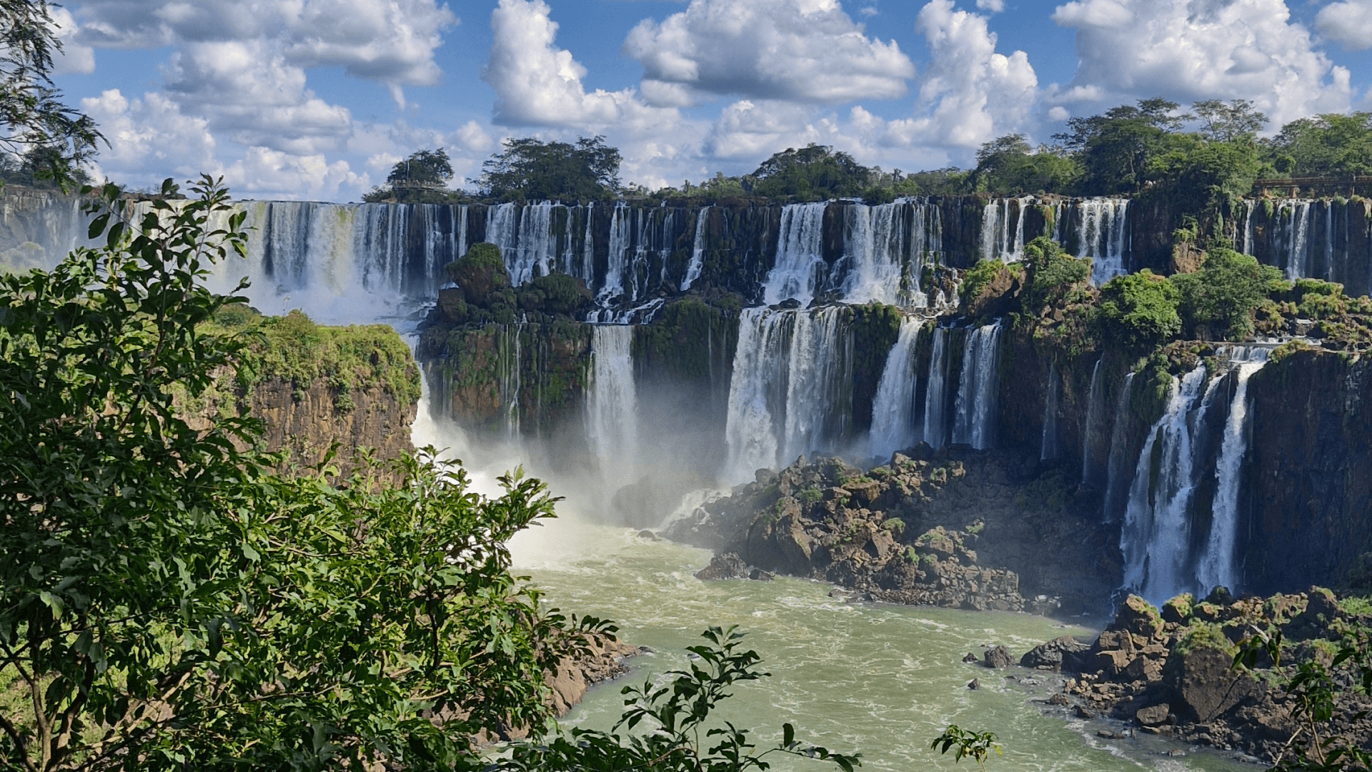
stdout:
<svg viewBox="0 0 1372 772">
<path fill-rule="evenodd" d="M 665 122 L 675 109 L 649 107 L 632 89 L 586 92 L 583 67 L 554 45 L 557 22 L 542 0 L 499 0 L 491 11 L 491 55 L 482 78 L 495 89 L 495 121 L 590 128 Z"/>
</svg>

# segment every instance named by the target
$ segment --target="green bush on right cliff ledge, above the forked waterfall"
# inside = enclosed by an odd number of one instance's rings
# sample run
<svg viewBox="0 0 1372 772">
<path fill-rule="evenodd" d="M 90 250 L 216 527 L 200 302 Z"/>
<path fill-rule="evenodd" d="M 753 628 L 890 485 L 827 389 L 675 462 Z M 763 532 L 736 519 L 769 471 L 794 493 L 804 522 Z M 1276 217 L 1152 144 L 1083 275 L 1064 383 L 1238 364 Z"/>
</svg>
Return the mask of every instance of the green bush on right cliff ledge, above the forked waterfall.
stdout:
<svg viewBox="0 0 1372 772">
<path fill-rule="evenodd" d="M 1253 315 L 1268 293 L 1281 288 L 1281 272 L 1228 247 L 1211 247 L 1195 273 L 1170 279 L 1177 288 L 1181 330 L 1202 341 L 1240 341 L 1253 334 Z"/>
</svg>

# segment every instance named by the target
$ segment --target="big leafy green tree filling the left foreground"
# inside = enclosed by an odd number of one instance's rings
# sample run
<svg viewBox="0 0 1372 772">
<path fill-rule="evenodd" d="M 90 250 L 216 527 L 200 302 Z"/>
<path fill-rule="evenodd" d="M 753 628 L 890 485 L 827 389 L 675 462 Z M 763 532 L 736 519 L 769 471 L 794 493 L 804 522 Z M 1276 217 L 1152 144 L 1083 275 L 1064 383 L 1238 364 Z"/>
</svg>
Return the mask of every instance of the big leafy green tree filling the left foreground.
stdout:
<svg viewBox="0 0 1372 772">
<path fill-rule="evenodd" d="M 484 499 L 421 456 L 335 488 L 235 449 L 250 420 L 192 429 L 251 342 L 207 324 L 246 298 L 203 286 L 244 214 L 209 179 L 84 192 L 103 246 L 0 276 L 0 767 L 451 768 L 539 727 L 543 670 L 604 629 L 509 573 L 543 485 Z"/>
</svg>

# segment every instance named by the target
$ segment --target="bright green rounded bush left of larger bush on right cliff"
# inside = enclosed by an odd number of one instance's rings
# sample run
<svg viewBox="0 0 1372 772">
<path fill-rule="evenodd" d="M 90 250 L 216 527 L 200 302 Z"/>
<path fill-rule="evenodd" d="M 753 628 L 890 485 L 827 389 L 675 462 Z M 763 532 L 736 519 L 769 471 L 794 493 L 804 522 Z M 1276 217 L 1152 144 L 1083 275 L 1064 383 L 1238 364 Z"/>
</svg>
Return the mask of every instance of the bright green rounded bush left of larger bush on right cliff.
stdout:
<svg viewBox="0 0 1372 772">
<path fill-rule="evenodd" d="M 1100 302 L 1092 315 L 1106 342 L 1151 349 L 1181 331 L 1177 313 L 1180 293 L 1147 268 L 1115 276 L 1100 287 Z"/>
</svg>

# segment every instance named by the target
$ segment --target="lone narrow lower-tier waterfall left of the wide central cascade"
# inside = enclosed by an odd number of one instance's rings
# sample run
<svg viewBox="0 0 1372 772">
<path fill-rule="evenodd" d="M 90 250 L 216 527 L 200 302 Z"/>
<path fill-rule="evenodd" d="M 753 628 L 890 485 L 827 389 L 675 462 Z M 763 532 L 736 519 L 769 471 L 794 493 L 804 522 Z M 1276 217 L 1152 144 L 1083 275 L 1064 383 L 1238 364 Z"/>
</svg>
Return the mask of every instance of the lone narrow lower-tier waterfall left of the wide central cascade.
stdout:
<svg viewBox="0 0 1372 772">
<path fill-rule="evenodd" d="M 617 485 L 635 478 L 634 466 L 638 459 L 632 343 L 632 326 L 597 324 L 591 330 L 586 435 L 601 464 L 601 477 Z"/>
</svg>

